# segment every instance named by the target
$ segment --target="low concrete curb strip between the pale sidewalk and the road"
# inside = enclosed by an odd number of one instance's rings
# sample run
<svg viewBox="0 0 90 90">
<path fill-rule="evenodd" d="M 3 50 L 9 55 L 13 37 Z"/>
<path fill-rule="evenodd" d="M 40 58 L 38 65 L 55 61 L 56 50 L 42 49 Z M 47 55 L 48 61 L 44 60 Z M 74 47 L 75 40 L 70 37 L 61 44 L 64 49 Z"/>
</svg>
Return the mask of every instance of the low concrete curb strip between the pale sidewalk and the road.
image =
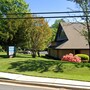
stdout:
<svg viewBox="0 0 90 90">
<path fill-rule="evenodd" d="M 70 85 L 70 84 L 56 84 L 56 83 L 40 83 L 40 82 L 28 82 L 28 81 L 19 81 L 11 80 L 8 78 L 0 78 L 0 82 L 23 84 L 23 85 L 35 85 L 35 86 L 44 86 L 44 87 L 53 87 L 53 88 L 66 88 L 71 90 L 90 90 L 90 87 L 80 86 L 80 85 Z"/>
</svg>

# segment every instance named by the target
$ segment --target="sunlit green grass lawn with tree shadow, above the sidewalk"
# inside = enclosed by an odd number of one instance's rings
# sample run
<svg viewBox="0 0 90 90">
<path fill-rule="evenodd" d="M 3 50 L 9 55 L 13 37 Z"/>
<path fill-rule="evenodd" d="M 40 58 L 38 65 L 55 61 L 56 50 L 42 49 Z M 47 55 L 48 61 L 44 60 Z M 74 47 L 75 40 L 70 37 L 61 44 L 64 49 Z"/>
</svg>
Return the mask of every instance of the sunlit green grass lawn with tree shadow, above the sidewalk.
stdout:
<svg viewBox="0 0 90 90">
<path fill-rule="evenodd" d="M 0 72 L 90 81 L 89 63 L 62 62 L 43 56 L 32 58 L 30 54 L 17 54 L 15 58 L 6 58 L 6 53 L 0 52 Z"/>
</svg>

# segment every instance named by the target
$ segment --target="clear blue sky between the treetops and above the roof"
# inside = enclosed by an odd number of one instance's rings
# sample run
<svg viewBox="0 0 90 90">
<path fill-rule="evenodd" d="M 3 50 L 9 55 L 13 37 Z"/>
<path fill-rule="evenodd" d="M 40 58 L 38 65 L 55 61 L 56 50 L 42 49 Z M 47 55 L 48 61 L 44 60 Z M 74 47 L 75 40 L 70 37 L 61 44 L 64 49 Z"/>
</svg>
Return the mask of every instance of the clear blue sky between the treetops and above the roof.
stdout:
<svg viewBox="0 0 90 90">
<path fill-rule="evenodd" d="M 67 0 L 25 0 L 29 4 L 31 13 L 34 12 L 65 12 L 76 10 L 77 6 L 75 3 Z M 62 14 L 65 15 L 65 14 Z M 39 15 L 39 16 L 57 16 L 53 15 Z M 58 18 L 46 19 L 51 26 Z M 68 20 L 68 19 L 67 19 Z"/>
</svg>

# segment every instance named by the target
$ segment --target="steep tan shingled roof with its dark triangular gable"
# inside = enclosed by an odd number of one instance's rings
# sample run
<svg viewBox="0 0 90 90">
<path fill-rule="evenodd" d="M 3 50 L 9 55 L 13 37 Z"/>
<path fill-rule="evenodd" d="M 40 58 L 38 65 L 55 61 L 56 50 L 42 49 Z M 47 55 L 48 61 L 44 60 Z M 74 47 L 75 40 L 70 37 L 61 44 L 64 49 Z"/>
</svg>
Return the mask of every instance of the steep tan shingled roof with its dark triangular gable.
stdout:
<svg viewBox="0 0 90 90">
<path fill-rule="evenodd" d="M 57 31 L 57 35 L 55 38 L 55 42 L 57 45 L 56 49 L 89 49 L 88 41 L 84 36 L 81 35 L 81 31 L 83 30 L 83 25 L 80 23 L 62 23 L 59 24 L 59 28 Z M 64 41 L 61 41 L 62 33 L 64 33 Z M 59 35 L 58 35 L 59 34 Z M 58 38 L 58 36 L 60 36 Z M 66 41 L 65 41 L 66 39 Z"/>
</svg>

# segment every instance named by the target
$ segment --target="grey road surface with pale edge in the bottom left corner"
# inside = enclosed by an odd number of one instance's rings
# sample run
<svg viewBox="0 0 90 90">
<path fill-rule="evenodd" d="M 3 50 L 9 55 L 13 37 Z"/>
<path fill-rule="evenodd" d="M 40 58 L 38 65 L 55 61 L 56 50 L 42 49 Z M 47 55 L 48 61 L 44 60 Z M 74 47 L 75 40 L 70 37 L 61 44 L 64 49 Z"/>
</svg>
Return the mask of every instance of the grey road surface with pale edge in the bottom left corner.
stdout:
<svg viewBox="0 0 90 90">
<path fill-rule="evenodd" d="M 71 90 L 71 89 L 0 82 L 0 90 Z"/>
</svg>

